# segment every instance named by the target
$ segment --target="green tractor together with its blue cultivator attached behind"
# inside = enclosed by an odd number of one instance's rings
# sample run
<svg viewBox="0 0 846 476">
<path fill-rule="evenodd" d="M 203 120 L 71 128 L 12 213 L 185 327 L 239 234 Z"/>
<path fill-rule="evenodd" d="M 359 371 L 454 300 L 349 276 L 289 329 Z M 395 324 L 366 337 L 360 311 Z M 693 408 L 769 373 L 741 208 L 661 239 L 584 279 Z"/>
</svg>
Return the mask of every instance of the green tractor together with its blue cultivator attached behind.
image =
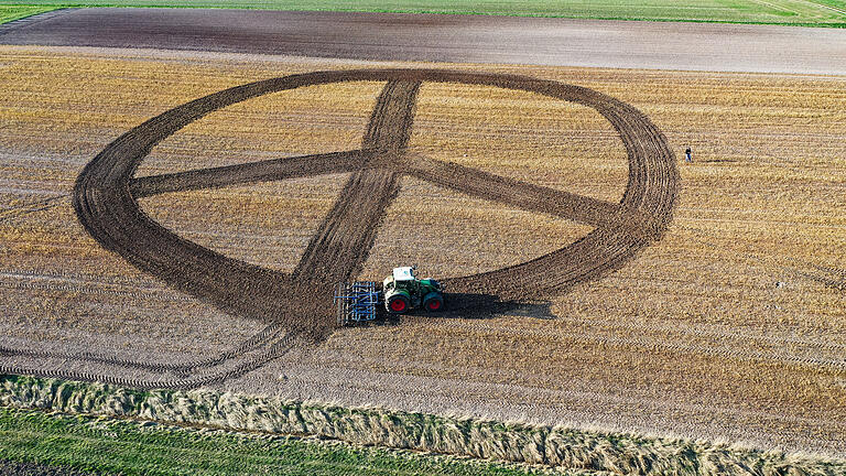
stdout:
<svg viewBox="0 0 846 476">
<path fill-rule="evenodd" d="M 421 307 L 430 312 L 441 311 L 444 307 L 443 286 L 433 279 L 416 279 L 414 270 L 414 267 L 394 268 L 382 281 L 381 290 L 372 281 L 339 283 L 334 298 L 338 325 L 373 321 L 380 303 L 384 303 L 390 314 L 405 314 Z"/>
</svg>

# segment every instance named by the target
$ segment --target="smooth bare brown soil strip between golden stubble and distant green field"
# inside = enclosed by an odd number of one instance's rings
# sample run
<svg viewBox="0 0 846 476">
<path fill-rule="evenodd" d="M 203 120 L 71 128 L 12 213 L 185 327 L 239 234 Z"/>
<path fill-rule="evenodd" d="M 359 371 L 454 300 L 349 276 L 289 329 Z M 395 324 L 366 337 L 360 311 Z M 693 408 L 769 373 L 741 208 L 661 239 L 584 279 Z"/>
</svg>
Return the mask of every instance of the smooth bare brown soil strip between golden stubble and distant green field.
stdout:
<svg viewBox="0 0 846 476">
<path fill-rule="evenodd" d="M 52 14 L 51 14 L 52 15 Z M 79 9 L 0 43 L 310 57 L 846 74 L 846 31 L 774 25 L 486 15 Z"/>
</svg>

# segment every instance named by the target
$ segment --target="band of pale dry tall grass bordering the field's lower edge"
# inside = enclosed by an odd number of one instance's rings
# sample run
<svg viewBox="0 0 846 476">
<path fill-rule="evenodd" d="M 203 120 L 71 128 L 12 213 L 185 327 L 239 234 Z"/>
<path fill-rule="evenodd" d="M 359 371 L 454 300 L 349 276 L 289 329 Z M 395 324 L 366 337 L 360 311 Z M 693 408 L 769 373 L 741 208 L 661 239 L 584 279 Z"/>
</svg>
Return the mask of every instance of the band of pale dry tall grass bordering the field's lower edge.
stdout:
<svg viewBox="0 0 846 476">
<path fill-rule="evenodd" d="M 0 407 L 337 440 L 640 475 L 846 474 L 846 461 L 671 437 L 346 408 L 213 390 L 142 391 L 105 383 L 0 376 Z"/>
</svg>

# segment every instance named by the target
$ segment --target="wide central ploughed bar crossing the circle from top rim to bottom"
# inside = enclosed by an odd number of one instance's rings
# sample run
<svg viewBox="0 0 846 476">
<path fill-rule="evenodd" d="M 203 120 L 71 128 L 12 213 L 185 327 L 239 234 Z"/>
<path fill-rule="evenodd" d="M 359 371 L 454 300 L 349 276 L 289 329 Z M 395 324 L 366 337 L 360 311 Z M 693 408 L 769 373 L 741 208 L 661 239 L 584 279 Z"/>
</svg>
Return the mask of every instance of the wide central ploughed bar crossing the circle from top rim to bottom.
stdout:
<svg viewBox="0 0 846 476">
<path fill-rule="evenodd" d="M 389 82 L 377 99 L 362 147 L 373 160 L 390 161 L 405 151 L 417 82 Z M 399 174 L 365 169 L 349 177 L 335 206 L 308 244 L 294 271 L 295 281 L 336 283 L 360 271 L 384 212 L 399 192 Z"/>
</svg>

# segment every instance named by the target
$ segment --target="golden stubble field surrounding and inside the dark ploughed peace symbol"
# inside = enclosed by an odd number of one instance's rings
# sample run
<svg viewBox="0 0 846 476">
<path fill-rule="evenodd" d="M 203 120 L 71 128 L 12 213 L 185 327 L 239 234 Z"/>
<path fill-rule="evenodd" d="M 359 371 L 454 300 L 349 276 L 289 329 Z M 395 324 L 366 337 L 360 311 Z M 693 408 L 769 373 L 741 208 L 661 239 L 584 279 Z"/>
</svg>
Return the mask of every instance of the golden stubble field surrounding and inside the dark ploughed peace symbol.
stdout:
<svg viewBox="0 0 846 476">
<path fill-rule="evenodd" d="M 451 65 L 600 91 L 646 113 L 677 159 L 694 151 L 694 163 L 677 165 L 673 219 L 660 240 L 598 279 L 497 312 L 409 316 L 274 350 L 283 331 L 178 292 L 180 283 L 137 270 L 79 225 L 77 175 L 144 120 L 258 79 L 365 66 L 372 65 L 2 47 L 0 305 L 9 332 L 1 344 L 64 354 L 11 353 L 0 363 L 164 382 L 186 370 L 200 380 L 236 376 L 264 358 L 258 370 L 209 385 L 846 454 L 840 77 Z M 356 150 L 383 86 L 310 86 L 212 112 L 154 147 L 135 176 Z M 406 148 L 611 203 L 629 180 L 626 150 L 595 110 L 491 86 L 423 82 Z M 360 278 L 379 280 L 404 263 L 445 279 L 491 271 L 593 230 L 421 175 L 399 178 Z M 295 272 L 347 180 L 333 173 L 138 202 L 184 239 Z M 166 367 L 257 335 L 268 338 L 253 338 L 231 361 Z"/>
</svg>

